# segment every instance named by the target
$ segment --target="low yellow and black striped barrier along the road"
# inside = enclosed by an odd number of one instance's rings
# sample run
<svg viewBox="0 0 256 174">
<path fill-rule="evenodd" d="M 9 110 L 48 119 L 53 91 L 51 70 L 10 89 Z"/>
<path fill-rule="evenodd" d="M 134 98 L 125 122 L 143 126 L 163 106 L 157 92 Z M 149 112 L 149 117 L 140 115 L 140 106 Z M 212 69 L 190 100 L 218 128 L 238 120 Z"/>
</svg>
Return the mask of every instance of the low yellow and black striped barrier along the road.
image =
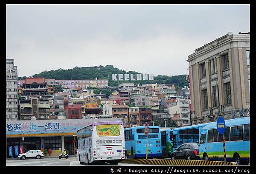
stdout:
<svg viewBox="0 0 256 174">
<path fill-rule="evenodd" d="M 224 166 L 222 161 L 203 161 L 203 160 L 159 160 L 159 159 L 134 159 L 128 158 L 120 163 L 146 164 L 157 166 Z M 236 166 L 234 162 L 226 162 L 227 166 Z"/>
</svg>

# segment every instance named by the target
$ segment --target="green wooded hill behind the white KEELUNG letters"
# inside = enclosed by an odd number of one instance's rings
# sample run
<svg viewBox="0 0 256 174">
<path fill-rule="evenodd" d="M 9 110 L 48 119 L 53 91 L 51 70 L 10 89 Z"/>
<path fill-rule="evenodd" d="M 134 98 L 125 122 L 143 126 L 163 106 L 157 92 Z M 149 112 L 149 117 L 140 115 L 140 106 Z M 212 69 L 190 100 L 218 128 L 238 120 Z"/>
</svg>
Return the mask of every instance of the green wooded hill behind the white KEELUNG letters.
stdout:
<svg viewBox="0 0 256 174">
<path fill-rule="evenodd" d="M 108 79 L 109 86 L 118 86 L 118 81 L 112 81 L 112 74 L 137 74 L 139 72 L 119 70 L 113 65 L 95 66 L 95 67 L 74 67 L 73 69 L 58 69 L 43 71 L 39 74 L 35 74 L 32 77 L 44 77 L 45 79 Z M 18 79 L 23 80 L 26 76 L 19 77 Z M 128 82 L 128 81 L 122 81 Z M 166 76 L 158 75 L 154 76 L 154 81 L 129 81 L 134 84 L 151 84 L 151 83 L 163 83 L 163 84 L 175 84 L 176 87 L 188 86 L 189 83 L 186 81 L 186 75 L 179 76 Z"/>
</svg>

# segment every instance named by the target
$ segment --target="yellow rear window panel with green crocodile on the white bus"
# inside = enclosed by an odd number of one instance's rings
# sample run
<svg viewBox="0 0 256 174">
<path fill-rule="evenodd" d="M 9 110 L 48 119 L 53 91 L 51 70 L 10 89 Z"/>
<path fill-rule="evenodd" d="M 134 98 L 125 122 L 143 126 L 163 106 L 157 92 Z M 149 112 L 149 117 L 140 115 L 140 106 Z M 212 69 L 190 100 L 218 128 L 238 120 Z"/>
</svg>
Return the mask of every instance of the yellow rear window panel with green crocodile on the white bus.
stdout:
<svg viewBox="0 0 256 174">
<path fill-rule="evenodd" d="M 97 134 L 99 137 L 105 136 L 119 136 L 120 125 L 119 124 L 102 124 L 96 126 Z"/>
</svg>

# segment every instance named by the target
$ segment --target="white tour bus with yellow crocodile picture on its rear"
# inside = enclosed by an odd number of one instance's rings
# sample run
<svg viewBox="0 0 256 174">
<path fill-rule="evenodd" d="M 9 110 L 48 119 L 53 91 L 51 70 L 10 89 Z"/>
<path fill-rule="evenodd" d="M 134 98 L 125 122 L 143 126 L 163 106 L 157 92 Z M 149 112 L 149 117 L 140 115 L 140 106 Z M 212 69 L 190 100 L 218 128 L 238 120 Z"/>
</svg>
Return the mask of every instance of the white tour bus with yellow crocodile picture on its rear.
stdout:
<svg viewBox="0 0 256 174">
<path fill-rule="evenodd" d="M 125 159 L 125 136 L 120 121 L 95 122 L 77 131 L 77 157 L 80 164 L 108 162 L 117 165 Z"/>
</svg>

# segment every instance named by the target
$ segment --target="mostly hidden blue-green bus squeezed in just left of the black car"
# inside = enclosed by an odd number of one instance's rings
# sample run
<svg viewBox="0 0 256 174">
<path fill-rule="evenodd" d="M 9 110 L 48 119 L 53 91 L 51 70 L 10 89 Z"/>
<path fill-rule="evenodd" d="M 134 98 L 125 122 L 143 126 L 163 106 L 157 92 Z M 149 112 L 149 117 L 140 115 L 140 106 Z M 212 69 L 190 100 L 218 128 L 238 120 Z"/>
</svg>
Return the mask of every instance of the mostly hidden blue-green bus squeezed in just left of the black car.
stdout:
<svg viewBox="0 0 256 174">
<path fill-rule="evenodd" d="M 173 152 L 173 128 L 161 128 L 162 157 L 171 157 Z"/>
</svg>

